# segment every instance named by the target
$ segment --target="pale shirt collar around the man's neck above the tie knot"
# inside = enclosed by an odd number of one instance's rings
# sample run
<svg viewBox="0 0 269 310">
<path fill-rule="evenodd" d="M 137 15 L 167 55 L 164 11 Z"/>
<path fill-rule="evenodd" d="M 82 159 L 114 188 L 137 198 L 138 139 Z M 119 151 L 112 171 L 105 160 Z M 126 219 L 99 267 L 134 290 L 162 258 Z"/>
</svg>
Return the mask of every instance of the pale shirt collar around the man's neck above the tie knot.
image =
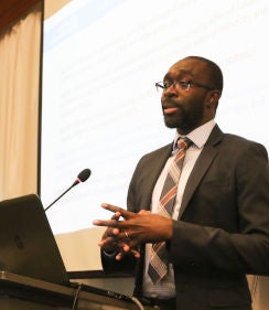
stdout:
<svg viewBox="0 0 269 310">
<path fill-rule="evenodd" d="M 173 143 L 173 152 L 177 149 L 177 139 L 181 137 L 187 137 L 198 148 L 203 148 L 205 142 L 207 141 L 214 126 L 216 125 L 215 120 L 212 119 L 202 126 L 195 128 L 193 131 L 189 132 L 186 136 L 180 136 L 180 133 L 175 132 L 174 143 Z"/>
</svg>

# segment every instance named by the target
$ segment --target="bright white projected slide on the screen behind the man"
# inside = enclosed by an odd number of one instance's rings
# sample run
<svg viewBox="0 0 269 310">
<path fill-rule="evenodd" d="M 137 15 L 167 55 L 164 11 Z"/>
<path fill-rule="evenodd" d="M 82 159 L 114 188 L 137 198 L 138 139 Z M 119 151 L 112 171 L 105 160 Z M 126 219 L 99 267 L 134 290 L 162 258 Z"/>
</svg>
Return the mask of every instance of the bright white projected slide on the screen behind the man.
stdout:
<svg viewBox="0 0 269 310">
<path fill-rule="evenodd" d="M 179 58 L 223 68 L 217 122 L 268 139 L 268 1 L 73 0 L 44 22 L 41 197 L 44 207 L 85 168 L 90 178 L 56 202 L 54 233 L 107 218 L 101 202 L 126 206 L 142 154 L 174 138 L 154 83 Z"/>
</svg>

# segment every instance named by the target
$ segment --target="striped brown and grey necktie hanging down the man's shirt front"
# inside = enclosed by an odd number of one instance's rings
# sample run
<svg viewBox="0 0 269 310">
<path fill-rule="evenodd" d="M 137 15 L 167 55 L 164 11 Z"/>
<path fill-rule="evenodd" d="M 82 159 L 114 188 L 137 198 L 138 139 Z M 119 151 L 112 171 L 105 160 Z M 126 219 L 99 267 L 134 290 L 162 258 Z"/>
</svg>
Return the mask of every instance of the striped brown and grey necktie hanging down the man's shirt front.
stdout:
<svg viewBox="0 0 269 310">
<path fill-rule="evenodd" d="M 185 151 L 191 143 L 192 141 L 189 138 L 180 138 L 177 140 L 179 151 L 169 168 L 158 205 L 158 213 L 165 217 L 172 217 Z M 166 272 L 168 253 L 165 249 L 165 242 L 152 244 L 148 270 L 152 282 L 159 282 L 166 275 Z"/>
</svg>

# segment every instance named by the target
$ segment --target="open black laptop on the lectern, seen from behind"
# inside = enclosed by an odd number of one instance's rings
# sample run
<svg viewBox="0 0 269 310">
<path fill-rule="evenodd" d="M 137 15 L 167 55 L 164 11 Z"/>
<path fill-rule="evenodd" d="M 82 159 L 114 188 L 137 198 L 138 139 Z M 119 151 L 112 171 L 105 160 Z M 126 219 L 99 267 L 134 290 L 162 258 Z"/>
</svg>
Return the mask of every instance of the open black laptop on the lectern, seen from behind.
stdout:
<svg viewBox="0 0 269 310">
<path fill-rule="evenodd" d="M 45 210 L 35 194 L 0 202 L 0 270 L 130 300 L 116 291 L 69 281 Z"/>
</svg>

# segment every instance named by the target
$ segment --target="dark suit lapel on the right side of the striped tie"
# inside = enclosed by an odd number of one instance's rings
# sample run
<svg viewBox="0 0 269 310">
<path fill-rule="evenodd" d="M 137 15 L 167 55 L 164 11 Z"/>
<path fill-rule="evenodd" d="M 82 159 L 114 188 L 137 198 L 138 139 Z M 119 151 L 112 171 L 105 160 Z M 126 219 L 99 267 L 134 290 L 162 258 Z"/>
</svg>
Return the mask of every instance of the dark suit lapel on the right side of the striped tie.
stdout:
<svg viewBox="0 0 269 310">
<path fill-rule="evenodd" d="M 180 209 L 179 220 L 182 217 L 183 212 L 187 207 L 187 204 L 195 192 L 196 188 L 201 183 L 204 174 L 208 170 L 212 161 L 218 153 L 218 149 L 215 147 L 220 140 L 222 140 L 223 132 L 216 125 L 205 143 L 200 157 L 197 158 L 197 161 L 194 164 L 194 168 L 190 174 L 190 178 L 187 180 L 185 191 L 182 197 L 182 204 Z"/>
</svg>

